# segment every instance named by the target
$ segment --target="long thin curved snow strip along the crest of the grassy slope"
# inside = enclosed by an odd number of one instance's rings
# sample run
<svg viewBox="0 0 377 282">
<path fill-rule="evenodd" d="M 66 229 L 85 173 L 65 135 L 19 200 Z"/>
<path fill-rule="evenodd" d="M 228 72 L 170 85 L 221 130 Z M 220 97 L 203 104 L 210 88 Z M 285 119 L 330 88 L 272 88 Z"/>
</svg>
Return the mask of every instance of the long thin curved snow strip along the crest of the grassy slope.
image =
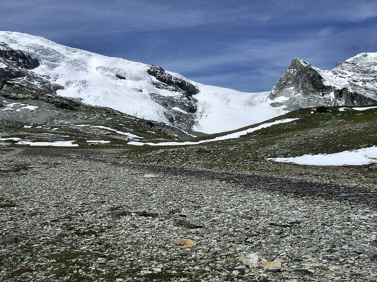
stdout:
<svg viewBox="0 0 377 282">
<path fill-rule="evenodd" d="M 213 139 L 200 140 L 198 142 L 186 141 L 186 142 L 161 142 L 161 143 L 150 143 L 149 142 L 149 143 L 142 143 L 142 142 L 131 141 L 131 142 L 127 143 L 127 144 L 129 144 L 129 145 L 135 145 L 135 146 L 143 146 L 143 145 L 150 145 L 150 146 L 199 145 L 199 144 L 202 144 L 202 143 L 208 143 L 208 142 L 214 142 L 214 141 L 220 141 L 220 140 L 226 140 L 226 139 L 235 139 L 235 138 L 238 138 L 241 135 L 245 135 L 247 133 L 251 133 L 251 132 L 254 132 L 256 130 L 259 130 L 259 129 L 262 129 L 262 128 L 266 128 L 266 127 L 272 126 L 274 124 L 291 122 L 291 121 L 294 121 L 296 119 L 299 119 L 299 118 L 286 118 L 286 119 L 282 119 L 282 120 L 276 120 L 276 121 L 273 121 L 273 122 L 267 122 L 267 123 L 258 125 L 256 127 L 248 128 L 248 129 L 245 129 L 245 130 L 242 130 L 242 131 L 238 131 L 238 132 L 233 132 L 233 133 L 226 134 L 226 135 L 223 135 L 223 136 L 218 136 L 218 137 L 213 138 Z"/>
</svg>

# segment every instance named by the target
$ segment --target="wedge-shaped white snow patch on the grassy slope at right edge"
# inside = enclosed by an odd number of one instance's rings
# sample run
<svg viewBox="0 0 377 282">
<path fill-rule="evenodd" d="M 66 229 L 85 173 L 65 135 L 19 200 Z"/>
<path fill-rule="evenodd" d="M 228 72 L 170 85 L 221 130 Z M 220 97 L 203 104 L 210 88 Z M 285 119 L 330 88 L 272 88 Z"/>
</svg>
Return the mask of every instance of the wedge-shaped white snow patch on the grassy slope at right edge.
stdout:
<svg viewBox="0 0 377 282">
<path fill-rule="evenodd" d="M 269 158 L 267 160 L 310 166 L 361 166 L 377 163 L 377 147 L 373 146 L 335 154 L 304 155 L 293 158 Z"/>
</svg>

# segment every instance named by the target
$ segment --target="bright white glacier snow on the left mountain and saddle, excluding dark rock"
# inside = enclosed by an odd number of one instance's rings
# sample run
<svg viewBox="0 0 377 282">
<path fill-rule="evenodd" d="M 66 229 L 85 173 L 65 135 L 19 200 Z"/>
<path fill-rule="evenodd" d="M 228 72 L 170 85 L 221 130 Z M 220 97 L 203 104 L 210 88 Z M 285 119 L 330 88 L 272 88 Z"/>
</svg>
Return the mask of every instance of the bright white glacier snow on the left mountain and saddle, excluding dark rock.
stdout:
<svg viewBox="0 0 377 282">
<path fill-rule="evenodd" d="M 111 107 L 149 120 L 170 122 L 166 109 L 148 93 L 177 96 L 176 92 L 156 88 L 156 79 L 147 74 L 148 65 L 59 45 L 42 37 L 17 32 L 0 32 L 0 42 L 37 58 L 40 66 L 32 71 L 64 86 L 57 94 L 81 98 L 90 105 Z M 262 122 L 284 112 L 264 102 L 268 92 L 244 93 L 204 85 L 168 72 L 194 84 L 199 94 L 196 124 L 193 130 L 217 133 Z M 120 75 L 126 79 L 119 79 Z"/>
</svg>

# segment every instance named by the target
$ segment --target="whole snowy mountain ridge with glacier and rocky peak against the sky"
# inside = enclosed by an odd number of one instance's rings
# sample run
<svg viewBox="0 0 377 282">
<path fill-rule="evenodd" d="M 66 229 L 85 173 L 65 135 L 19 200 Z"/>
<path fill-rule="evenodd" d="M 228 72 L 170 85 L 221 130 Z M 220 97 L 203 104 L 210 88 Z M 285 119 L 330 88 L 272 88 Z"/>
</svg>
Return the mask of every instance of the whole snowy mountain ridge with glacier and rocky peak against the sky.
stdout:
<svg viewBox="0 0 377 282">
<path fill-rule="evenodd" d="M 32 35 L 0 32 L 0 42 L 1 87 L 4 81 L 31 85 L 163 122 L 188 136 L 234 130 L 299 108 L 377 104 L 377 53 L 360 53 L 330 71 L 295 58 L 271 91 L 246 93 Z"/>
</svg>

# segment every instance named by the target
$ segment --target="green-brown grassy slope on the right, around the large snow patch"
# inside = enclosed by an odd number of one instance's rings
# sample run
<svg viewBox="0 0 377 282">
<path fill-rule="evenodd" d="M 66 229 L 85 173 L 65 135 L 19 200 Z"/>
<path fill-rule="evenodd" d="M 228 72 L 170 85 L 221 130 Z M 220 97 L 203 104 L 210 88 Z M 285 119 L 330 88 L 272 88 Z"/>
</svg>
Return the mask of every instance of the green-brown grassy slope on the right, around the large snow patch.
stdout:
<svg viewBox="0 0 377 282">
<path fill-rule="evenodd" d="M 198 152 L 198 148 L 202 146 L 143 146 L 130 148 L 121 158 L 132 162 L 190 169 L 298 179 L 309 177 L 321 182 L 331 180 L 346 184 L 376 184 L 373 165 L 300 166 L 267 161 L 265 158 L 330 154 L 377 145 L 377 109 L 332 113 L 311 113 L 311 109 L 301 109 L 272 120 L 293 117 L 300 119 L 257 130 L 237 139 L 203 144 L 210 152 Z M 251 127 L 254 126 L 256 125 Z"/>
</svg>

